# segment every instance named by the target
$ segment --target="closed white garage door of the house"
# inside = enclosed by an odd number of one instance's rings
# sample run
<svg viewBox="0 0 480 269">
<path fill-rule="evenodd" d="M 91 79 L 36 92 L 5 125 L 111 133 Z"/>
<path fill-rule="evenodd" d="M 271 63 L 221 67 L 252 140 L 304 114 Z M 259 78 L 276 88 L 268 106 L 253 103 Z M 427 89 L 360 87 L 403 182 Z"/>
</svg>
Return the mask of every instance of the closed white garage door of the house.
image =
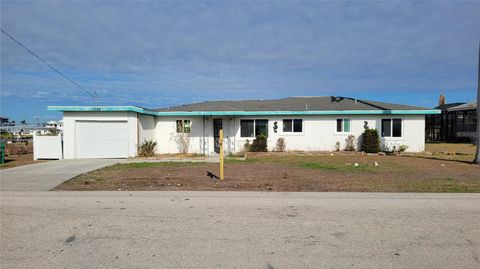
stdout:
<svg viewBox="0 0 480 269">
<path fill-rule="evenodd" d="M 77 158 L 127 158 L 126 121 L 76 121 Z"/>
</svg>

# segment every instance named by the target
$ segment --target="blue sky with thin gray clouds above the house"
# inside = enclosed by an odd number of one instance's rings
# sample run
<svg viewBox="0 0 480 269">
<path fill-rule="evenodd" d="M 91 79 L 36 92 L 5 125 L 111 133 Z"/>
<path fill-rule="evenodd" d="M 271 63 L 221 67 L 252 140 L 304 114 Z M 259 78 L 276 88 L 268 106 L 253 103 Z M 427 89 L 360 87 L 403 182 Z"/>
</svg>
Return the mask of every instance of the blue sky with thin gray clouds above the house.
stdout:
<svg viewBox="0 0 480 269">
<path fill-rule="evenodd" d="M 1 1 L 1 28 L 99 105 L 348 96 L 434 107 L 476 97 L 480 1 Z M 94 100 L 1 35 L 0 114 Z"/>
</svg>

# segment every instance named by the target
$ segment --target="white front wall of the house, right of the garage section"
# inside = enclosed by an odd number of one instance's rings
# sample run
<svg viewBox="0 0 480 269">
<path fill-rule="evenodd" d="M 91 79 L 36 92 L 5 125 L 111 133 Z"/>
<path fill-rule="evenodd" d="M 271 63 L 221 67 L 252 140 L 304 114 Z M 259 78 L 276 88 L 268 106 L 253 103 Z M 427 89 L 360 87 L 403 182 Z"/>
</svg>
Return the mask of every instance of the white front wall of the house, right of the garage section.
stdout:
<svg viewBox="0 0 480 269">
<path fill-rule="evenodd" d="M 214 151 L 213 119 L 215 117 L 157 117 L 156 139 L 159 144 L 158 153 L 178 153 L 179 147 L 176 138 L 176 120 L 191 120 L 190 153 L 210 154 Z M 382 145 L 392 148 L 394 145 L 407 145 L 411 152 L 424 151 L 425 149 L 425 116 L 424 115 L 319 115 L 303 117 L 217 117 L 223 120 L 225 136 L 225 151 L 239 152 L 248 139 L 240 137 L 240 120 L 242 119 L 268 119 L 268 149 L 274 150 L 278 138 L 283 137 L 286 148 L 290 151 L 330 151 L 335 150 L 336 142 L 340 142 L 341 149 L 345 148 L 346 138 L 352 134 L 357 139 L 364 131 L 364 122 L 368 122 L 370 128 L 381 129 L 381 120 L 386 118 L 402 118 L 402 137 L 381 138 Z M 351 132 L 337 133 L 337 118 L 349 118 L 351 120 Z M 302 119 L 302 133 L 283 133 L 283 119 Z M 277 121 L 277 133 L 273 130 L 273 124 Z M 205 126 L 203 125 L 205 122 Z M 205 137 L 205 139 L 204 139 Z"/>
</svg>

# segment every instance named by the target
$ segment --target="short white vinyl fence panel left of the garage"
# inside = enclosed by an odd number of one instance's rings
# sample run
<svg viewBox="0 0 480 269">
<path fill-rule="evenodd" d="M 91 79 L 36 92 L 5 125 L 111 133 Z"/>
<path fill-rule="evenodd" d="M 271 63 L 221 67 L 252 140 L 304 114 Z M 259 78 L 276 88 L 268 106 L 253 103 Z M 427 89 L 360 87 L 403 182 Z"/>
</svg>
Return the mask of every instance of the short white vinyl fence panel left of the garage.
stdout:
<svg viewBox="0 0 480 269">
<path fill-rule="evenodd" d="M 63 159 L 62 135 L 33 135 L 33 159 Z"/>
</svg>

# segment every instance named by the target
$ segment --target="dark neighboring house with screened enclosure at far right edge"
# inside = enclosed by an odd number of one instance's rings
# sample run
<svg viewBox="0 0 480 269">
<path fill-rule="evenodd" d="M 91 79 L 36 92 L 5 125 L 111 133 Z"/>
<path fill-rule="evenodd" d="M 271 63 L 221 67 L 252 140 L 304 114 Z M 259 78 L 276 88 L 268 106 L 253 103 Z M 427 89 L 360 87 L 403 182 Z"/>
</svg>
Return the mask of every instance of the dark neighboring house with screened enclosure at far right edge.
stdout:
<svg viewBox="0 0 480 269">
<path fill-rule="evenodd" d="M 441 114 L 426 116 L 427 142 L 472 142 L 477 135 L 477 103 L 437 106 Z"/>
</svg>

